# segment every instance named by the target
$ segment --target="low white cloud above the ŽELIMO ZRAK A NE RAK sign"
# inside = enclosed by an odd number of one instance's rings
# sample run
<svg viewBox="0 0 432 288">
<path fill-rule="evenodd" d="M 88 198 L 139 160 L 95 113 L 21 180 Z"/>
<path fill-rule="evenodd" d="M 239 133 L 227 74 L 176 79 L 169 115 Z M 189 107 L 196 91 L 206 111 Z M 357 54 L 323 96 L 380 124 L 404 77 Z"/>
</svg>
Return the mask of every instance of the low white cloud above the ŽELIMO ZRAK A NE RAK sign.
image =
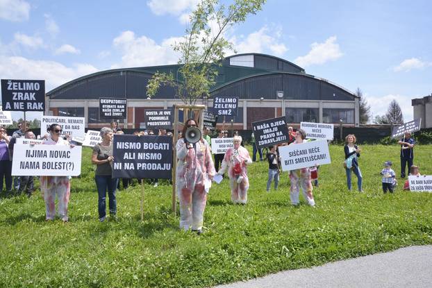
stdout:
<svg viewBox="0 0 432 288">
<path fill-rule="evenodd" d="M 42 79 L 47 92 L 75 78 L 97 72 L 98 69 L 85 63 L 67 67 L 59 62 L 31 60 L 20 56 L 0 56 L 2 78 Z"/>
</svg>

